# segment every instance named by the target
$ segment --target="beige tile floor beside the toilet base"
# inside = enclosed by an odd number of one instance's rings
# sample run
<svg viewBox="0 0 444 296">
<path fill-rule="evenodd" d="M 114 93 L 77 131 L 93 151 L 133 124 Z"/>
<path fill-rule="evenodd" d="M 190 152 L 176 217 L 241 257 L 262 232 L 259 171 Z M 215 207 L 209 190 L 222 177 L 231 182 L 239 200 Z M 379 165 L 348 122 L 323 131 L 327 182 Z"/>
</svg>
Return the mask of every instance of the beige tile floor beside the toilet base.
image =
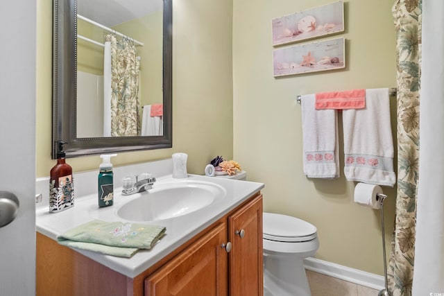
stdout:
<svg viewBox="0 0 444 296">
<path fill-rule="evenodd" d="M 311 296 L 377 296 L 379 290 L 307 270 Z"/>
</svg>

